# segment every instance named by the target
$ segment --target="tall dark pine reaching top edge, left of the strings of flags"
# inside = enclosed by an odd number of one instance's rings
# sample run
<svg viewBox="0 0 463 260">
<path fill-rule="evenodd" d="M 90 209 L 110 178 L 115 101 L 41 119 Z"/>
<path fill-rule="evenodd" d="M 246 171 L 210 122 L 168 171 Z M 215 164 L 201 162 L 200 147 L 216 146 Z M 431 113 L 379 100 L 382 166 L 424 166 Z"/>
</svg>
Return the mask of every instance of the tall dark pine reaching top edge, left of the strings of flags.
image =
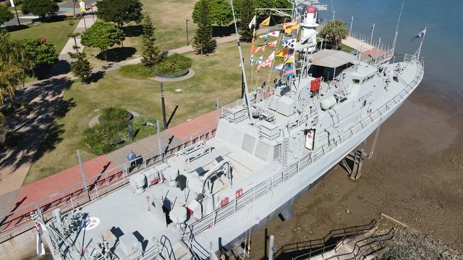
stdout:
<svg viewBox="0 0 463 260">
<path fill-rule="evenodd" d="M 207 0 L 199 0 L 198 28 L 194 33 L 192 46 L 196 54 L 213 53 L 216 48 L 216 42 L 212 38 L 211 18 L 209 15 L 209 5 Z"/>
</svg>

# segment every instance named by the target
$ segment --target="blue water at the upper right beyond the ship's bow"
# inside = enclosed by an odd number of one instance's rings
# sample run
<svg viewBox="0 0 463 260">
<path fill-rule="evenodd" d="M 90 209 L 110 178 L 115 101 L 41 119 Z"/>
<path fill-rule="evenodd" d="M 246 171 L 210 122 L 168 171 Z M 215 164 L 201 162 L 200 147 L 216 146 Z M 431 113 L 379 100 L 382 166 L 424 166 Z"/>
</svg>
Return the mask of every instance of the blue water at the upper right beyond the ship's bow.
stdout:
<svg viewBox="0 0 463 260">
<path fill-rule="evenodd" d="M 323 0 L 328 4 L 321 18 L 341 19 L 352 31 L 392 45 L 402 0 Z M 333 9 L 331 9 L 333 3 Z M 425 59 L 425 77 L 418 91 L 432 94 L 463 111 L 463 0 L 405 0 L 397 38 L 396 54 L 415 53 L 420 40 L 411 41 L 427 26 L 421 55 Z"/>
</svg>

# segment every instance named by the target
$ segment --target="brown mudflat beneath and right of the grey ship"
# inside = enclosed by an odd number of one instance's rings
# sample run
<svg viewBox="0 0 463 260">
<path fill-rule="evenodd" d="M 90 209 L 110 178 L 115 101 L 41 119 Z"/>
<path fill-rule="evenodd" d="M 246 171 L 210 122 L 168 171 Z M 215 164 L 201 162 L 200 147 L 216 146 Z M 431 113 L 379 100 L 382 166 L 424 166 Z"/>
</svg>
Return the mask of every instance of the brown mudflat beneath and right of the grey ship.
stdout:
<svg viewBox="0 0 463 260">
<path fill-rule="evenodd" d="M 425 83 L 425 82 L 423 82 Z M 422 83 L 422 84 L 423 84 Z M 251 259 L 264 256 L 264 229 L 284 244 L 324 237 L 331 229 L 380 220 L 442 239 L 463 251 L 463 113 L 419 89 L 380 128 L 373 157 L 353 181 L 336 166 L 293 205 L 293 217 L 276 217 L 252 234 Z M 370 151 L 374 133 L 367 142 Z"/>
</svg>

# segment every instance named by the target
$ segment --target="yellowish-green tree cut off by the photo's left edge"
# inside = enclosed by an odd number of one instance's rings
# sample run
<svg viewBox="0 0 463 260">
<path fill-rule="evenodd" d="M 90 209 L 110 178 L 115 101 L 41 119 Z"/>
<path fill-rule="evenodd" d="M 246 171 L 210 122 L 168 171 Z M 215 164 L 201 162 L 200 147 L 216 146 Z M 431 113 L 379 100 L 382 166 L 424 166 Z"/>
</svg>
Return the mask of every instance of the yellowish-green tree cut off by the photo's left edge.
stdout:
<svg viewBox="0 0 463 260">
<path fill-rule="evenodd" d="M 6 30 L 0 31 L 0 107 L 6 97 L 14 103 L 16 90 L 24 86 L 26 70 L 31 63 L 26 57 L 24 46 L 19 41 L 10 40 Z M 0 143 L 6 138 L 6 119 L 0 112 Z"/>
</svg>

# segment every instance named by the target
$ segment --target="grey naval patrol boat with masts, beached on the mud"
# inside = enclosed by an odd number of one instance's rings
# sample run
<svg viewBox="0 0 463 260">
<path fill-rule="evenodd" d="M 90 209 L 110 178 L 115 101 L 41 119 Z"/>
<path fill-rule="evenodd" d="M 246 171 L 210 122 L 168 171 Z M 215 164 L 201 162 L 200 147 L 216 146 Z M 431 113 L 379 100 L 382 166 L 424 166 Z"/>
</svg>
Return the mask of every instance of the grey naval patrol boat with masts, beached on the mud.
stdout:
<svg viewBox="0 0 463 260">
<path fill-rule="evenodd" d="M 129 185 L 79 210 L 55 210 L 48 221 L 36 212 L 54 259 L 219 259 L 291 207 L 420 84 L 419 52 L 392 63 L 393 50 L 368 59 L 316 50 L 316 7 L 295 4 L 291 16 L 297 32 L 282 37 L 293 61 L 272 84 L 249 90 L 239 47 L 246 91 L 222 107 L 214 137 L 127 173 Z"/>
</svg>

